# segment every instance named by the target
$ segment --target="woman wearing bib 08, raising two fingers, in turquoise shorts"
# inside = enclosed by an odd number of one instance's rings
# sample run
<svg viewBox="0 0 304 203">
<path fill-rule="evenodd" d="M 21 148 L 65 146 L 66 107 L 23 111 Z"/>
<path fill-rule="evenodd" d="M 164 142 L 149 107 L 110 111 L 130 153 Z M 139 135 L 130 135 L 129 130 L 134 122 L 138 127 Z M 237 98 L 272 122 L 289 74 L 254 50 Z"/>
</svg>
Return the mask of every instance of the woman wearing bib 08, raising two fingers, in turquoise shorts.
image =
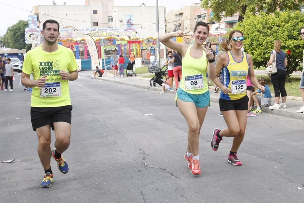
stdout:
<svg viewBox="0 0 304 203">
<path fill-rule="evenodd" d="M 171 40 L 173 37 L 185 37 L 187 33 L 179 30 L 164 34 L 159 37 L 159 40 L 167 47 L 179 51 L 183 56 L 182 78 L 181 85 L 176 93 L 176 105 L 188 124 L 188 146 L 184 158 L 188 162 L 188 168 L 191 169 L 191 172 L 194 175 L 198 175 L 201 173 L 199 132 L 210 101 L 206 71 L 207 66 L 209 67 L 210 65 L 214 69 L 213 62 L 215 60 L 209 48 L 206 50 L 203 47 L 203 43 L 209 33 L 209 25 L 207 23 L 196 23 L 194 28 L 195 40 L 192 46 Z"/>
</svg>

